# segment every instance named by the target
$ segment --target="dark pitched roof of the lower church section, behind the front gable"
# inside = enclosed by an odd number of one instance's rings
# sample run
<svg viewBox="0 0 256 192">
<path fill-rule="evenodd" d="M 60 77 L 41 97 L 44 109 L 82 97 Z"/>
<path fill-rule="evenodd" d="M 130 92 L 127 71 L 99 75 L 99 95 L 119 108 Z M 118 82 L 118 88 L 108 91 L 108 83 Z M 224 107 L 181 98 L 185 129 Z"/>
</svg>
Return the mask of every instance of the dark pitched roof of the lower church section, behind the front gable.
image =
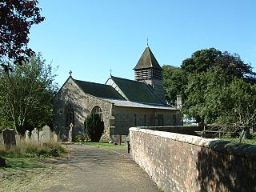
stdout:
<svg viewBox="0 0 256 192">
<path fill-rule="evenodd" d="M 119 94 L 112 86 L 95 83 L 95 82 L 84 82 L 75 80 L 74 82 L 86 93 L 94 95 L 98 98 L 112 98 L 125 100 L 121 94 Z"/>
</svg>

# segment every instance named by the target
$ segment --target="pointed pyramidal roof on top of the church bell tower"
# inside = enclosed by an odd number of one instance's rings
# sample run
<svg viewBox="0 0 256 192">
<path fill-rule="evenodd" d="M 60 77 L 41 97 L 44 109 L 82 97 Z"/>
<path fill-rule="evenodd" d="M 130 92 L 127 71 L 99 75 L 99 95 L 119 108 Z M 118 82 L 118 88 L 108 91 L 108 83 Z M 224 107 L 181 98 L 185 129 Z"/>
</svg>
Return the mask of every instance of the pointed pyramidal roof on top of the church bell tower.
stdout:
<svg viewBox="0 0 256 192">
<path fill-rule="evenodd" d="M 134 67 L 134 70 L 141 70 L 147 68 L 162 70 L 157 59 L 154 57 L 154 54 L 150 50 L 150 47 L 146 47 L 141 58 L 138 60 L 137 65 Z"/>
</svg>

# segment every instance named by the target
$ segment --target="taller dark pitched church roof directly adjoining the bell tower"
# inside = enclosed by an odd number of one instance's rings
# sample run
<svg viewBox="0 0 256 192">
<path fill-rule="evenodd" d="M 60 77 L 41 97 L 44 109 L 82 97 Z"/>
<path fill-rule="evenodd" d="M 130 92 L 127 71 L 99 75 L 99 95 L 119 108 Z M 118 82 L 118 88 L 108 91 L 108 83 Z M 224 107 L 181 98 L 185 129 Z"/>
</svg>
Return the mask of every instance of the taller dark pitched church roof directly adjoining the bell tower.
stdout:
<svg viewBox="0 0 256 192">
<path fill-rule="evenodd" d="M 154 94 L 150 86 L 144 82 L 132 81 L 126 78 L 111 76 L 111 79 L 126 95 L 130 102 L 156 103 L 162 104 L 160 99 Z"/>
</svg>

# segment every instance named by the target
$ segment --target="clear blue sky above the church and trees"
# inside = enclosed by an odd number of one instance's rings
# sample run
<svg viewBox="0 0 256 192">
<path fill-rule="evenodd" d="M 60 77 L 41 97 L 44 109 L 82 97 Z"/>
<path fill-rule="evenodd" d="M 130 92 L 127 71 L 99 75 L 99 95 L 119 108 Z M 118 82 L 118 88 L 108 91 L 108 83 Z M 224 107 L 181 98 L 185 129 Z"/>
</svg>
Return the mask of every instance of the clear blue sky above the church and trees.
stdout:
<svg viewBox="0 0 256 192">
<path fill-rule="evenodd" d="M 61 86 L 76 79 L 134 79 L 146 38 L 159 64 L 180 66 L 196 50 L 238 53 L 256 71 L 254 0 L 39 0 L 46 21 L 32 26 L 30 47 L 59 66 Z"/>
</svg>

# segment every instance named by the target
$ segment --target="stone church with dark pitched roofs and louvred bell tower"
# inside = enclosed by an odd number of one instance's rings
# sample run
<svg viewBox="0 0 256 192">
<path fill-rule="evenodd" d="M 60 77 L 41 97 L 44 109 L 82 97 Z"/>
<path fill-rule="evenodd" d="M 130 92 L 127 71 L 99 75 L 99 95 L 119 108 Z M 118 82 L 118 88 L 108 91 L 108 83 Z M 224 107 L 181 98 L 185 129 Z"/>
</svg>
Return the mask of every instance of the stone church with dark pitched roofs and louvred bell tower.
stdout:
<svg viewBox="0 0 256 192">
<path fill-rule="evenodd" d="M 71 74 L 54 97 L 54 130 L 68 136 L 70 123 L 76 134 L 83 134 L 83 123 L 90 113 L 100 114 L 110 135 L 129 134 L 132 126 L 182 125 L 179 107 L 166 104 L 162 68 L 146 47 L 134 67 L 135 80 L 110 75 L 105 84 L 74 79 Z"/>
</svg>

